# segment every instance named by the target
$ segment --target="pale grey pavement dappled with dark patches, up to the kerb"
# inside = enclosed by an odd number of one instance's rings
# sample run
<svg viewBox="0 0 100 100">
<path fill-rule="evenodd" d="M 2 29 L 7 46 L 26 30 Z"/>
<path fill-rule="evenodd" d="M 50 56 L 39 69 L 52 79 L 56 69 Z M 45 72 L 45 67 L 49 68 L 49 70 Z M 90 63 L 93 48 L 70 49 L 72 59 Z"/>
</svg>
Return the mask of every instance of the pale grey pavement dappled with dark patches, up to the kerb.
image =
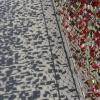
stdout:
<svg viewBox="0 0 100 100">
<path fill-rule="evenodd" d="M 52 0 L 0 0 L 0 100 L 81 100 Z"/>
</svg>

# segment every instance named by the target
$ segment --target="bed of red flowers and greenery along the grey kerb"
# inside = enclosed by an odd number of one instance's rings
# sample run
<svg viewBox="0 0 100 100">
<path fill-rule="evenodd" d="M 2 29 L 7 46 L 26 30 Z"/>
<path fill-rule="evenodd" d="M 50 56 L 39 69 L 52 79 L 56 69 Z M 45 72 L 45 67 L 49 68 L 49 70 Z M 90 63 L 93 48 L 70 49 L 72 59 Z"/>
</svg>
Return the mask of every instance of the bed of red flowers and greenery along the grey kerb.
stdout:
<svg viewBox="0 0 100 100">
<path fill-rule="evenodd" d="M 54 0 L 85 97 L 100 98 L 100 0 Z"/>
</svg>

